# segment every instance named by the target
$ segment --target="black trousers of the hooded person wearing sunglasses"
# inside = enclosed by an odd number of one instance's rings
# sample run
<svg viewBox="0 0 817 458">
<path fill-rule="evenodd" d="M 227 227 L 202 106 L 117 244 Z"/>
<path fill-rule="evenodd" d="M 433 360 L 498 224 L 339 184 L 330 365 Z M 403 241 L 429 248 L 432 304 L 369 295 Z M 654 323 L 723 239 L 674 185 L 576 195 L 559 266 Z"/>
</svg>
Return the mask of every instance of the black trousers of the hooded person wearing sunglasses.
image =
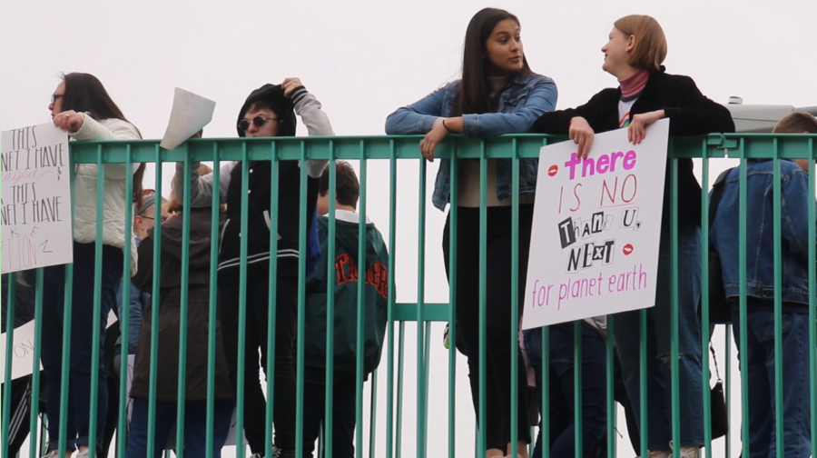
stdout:
<svg viewBox="0 0 817 458">
<path fill-rule="evenodd" d="M 273 421 L 275 446 L 295 450 L 295 331 L 298 320 L 298 277 L 279 275 L 275 314 L 275 393 Z M 247 284 L 247 324 L 239 329 L 239 287 L 219 285 L 221 300 L 221 333 L 224 353 L 230 366 L 233 389 L 238 386 L 238 343 L 244 340 L 244 435 L 252 453 L 263 453 L 266 444 L 267 403 L 259 381 L 258 349 L 261 367 L 267 368 L 267 328 L 270 284 L 265 281 Z M 238 398 L 236 398 L 238 399 Z"/>
</svg>

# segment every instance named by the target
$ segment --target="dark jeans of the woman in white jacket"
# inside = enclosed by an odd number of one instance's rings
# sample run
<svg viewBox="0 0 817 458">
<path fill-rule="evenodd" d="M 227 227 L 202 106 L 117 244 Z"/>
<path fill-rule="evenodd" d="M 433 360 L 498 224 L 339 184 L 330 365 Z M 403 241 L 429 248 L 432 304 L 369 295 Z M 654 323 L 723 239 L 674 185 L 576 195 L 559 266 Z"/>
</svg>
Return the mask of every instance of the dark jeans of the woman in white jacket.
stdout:
<svg viewBox="0 0 817 458">
<path fill-rule="evenodd" d="M 56 450 L 60 434 L 67 436 L 68 452 L 74 445 L 89 445 L 91 415 L 96 415 L 96 447 L 102 448 L 108 385 L 105 380 L 105 327 L 111 307 L 116 304 L 116 290 L 122 282 L 122 248 L 103 245 L 102 306 L 99 328 L 94 329 L 94 244 L 74 242 L 73 302 L 69 320 L 64 317 L 65 265 L 53 265 L 44 270 L 42 363 L 46 380 L 46 414 L 48 451 Z M 63 367 L 63 331 L 71 326 L 70 371 L 68 382 L 67 431 L 59 431 L 60 390 Z M 99 333 L 99 370 L 91 373 L 92 338 Z M 91 380 L 99 381 L 96 412 L 91 412 Z M 115 421 L 115 419 L 112 419 Z"/>
</svg>

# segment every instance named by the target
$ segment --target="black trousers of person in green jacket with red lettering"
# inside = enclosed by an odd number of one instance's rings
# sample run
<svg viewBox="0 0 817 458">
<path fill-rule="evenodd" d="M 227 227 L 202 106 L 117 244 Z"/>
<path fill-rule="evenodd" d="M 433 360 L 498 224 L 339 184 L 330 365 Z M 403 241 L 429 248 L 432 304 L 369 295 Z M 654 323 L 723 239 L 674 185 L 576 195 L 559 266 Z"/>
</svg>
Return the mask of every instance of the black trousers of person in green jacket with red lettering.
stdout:
<svg viewBox="0 0 817 458">
<path fill-rule="evenodd" d="M 335 371 L 332 383 L 332 456 L 354 458 L 357 378 L 355 373 Z M 312 456 L 320 431 L 325 431 L 325 413 L 326 371 L 307 367 L 303 383 L 304 456 Z"/>
</svg>

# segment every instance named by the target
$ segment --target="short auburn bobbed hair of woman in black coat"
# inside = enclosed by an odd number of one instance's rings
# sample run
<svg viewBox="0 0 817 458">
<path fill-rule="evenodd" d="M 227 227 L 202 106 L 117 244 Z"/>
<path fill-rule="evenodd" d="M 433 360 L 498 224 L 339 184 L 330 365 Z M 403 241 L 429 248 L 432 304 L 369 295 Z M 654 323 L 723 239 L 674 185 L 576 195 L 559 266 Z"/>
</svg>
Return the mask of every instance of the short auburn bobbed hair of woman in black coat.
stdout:
<svg viewBox="0 0 817 458">
<path fill-rule="evenodd" d="M 635 47 L 627 57 L 627 64 L 645 70 L 658 70 L 666 58 L 664 29 L 652 16 L 628 15 L 613 24 L 619 32 L 635 36 Z"/>
</svg>

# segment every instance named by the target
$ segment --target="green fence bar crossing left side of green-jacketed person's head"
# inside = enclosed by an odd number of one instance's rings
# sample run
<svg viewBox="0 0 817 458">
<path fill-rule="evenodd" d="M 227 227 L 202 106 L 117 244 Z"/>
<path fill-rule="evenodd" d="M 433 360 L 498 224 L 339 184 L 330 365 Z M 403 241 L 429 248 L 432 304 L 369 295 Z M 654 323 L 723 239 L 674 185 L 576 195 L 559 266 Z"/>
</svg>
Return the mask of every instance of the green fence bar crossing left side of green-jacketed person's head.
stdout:
<svg viewBox="0 0 817 458">
<path fill-rule="evenodd" d="M 338 178 L 337 178 L 337 164 L 334 155 L 334 143 L 330 142 L 330 182 L 329 182 L 329 234 L 327 240 L 327 272 L 331 273 L 335 270 L 335 237 L 337 234 L 337 224 L 335 219 L 335 208 L 337 206 L 338 195 Z M 327 274 L 327 278 L 331 279 L 332 274 Z M 332 419 L 334 383 L 332 383 L 332 374 L 335 367 L 335 282 L 327 282 L 326 285 L 326 393 L 323 415 L 323 443 L 324 453 L 326 458 L 332 458 L 334 447 L 332 444 L 334 422 Z"/>
</svg>

